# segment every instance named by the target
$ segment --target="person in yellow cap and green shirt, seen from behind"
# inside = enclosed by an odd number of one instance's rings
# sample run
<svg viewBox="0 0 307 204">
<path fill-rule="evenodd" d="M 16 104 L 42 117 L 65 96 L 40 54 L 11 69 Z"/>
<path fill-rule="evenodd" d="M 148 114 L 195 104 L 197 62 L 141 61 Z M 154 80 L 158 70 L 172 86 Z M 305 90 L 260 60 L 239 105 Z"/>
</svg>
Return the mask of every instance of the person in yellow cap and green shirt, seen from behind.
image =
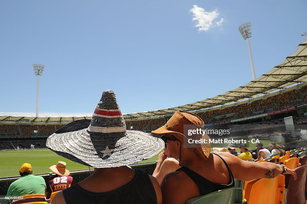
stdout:
<svg viewBox="0 0 307 204">
<path fill-rule="evenodd" d="M 45 194 L 46 183 L 43 177 L 32 175 L 31 164 L 24 163 L 20 166 L 21 178 L 11 183 L 7 196 L 22 196 L 28 194 Z"/>
</svg>

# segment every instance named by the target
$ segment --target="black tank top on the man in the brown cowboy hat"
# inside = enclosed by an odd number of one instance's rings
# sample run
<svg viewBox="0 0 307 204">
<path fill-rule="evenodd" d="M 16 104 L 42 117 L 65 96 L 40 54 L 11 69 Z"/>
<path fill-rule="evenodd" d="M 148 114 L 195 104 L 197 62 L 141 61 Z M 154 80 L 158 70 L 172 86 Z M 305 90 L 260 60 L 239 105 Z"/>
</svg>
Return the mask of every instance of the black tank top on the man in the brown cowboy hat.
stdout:
<svg viewBox="0 0 307 204">
<path fill-rule="evenodd" d="M 218 191 L 218 190 L 222 190 L 222 189 L 225 189 L 225 188 L 230 188 L 230 187 L 235 186 L 235 179 L 233 178 L 232 172 L 231 172 L 228 164 L 226 163 L 226 161 L 220 155 L 218 155 L 216 153 L 212 153 L 212 154 L 219 156 L 223 160 L 226 167 L 228 168 L 228 171 L 229 171 L 229 174 L 230 174 L 230 177 L 231 177 L 230 184 L 213 183 L 213 182 L 211 182 L 208 179 L 200 176 L 198 173 L 192 171 L 191 169 L 189 169 L 188 167 L 185 167 L 185 166 L 176 170 L 176 171 L 185 172 L 196 183 L 196 185 L 200 189 L 200 195 L 205 195 L 205 194 L 208 194 L 208 193 L 212 193 L 214 191 Z"/>
</svg>

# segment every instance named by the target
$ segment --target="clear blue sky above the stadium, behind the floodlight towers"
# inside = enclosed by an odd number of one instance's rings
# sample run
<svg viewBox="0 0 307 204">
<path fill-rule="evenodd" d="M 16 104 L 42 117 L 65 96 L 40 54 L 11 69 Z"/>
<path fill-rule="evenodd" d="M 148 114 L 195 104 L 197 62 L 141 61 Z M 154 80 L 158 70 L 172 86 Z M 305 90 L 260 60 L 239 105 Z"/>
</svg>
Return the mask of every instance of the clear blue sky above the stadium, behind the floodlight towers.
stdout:
<svg viewBox="0 0 307 204">
<path fill-rule="evenodd" d="M 0 114 L 35 115 L 33 63 L 45 65 L 40 116 L 91 115 L 106 89 L 122 113 L 225 93 L 252 80 L 238 26 L 251 21 L 260 77 L 306 40 L 306 8 L 306 1 L 277 0 L 3 0 Z"/>
</svg>

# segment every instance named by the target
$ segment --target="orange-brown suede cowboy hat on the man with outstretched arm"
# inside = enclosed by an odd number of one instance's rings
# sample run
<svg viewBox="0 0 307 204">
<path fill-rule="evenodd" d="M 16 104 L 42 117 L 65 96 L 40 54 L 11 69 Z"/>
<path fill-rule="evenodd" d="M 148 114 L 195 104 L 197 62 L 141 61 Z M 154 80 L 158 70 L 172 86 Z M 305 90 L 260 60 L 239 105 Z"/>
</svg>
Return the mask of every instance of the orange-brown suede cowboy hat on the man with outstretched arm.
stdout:
<svg viewBox="0 0 307 204">
<path fill-rule="evenodd" d="M 164 126 L 151 132 L 155 135 L 171 134 L 180 142 L 185 142 L 186 144 L 186 141 L 188 141 L 188 137 L 186 137 L 184 134 L 185 125 L 192 125 L 196 128 L 203 128 L 204 121 L 193 113 L 185 111 L 176 111 Z M 209 141 L 210 139 L 207 134 L 204 134 L 202 138 L 206 139 L 206 141 Z M 199 146 L 201 147 L 195 148 L 195 153 L 197 153 L 200 157 L 203 157 L 205 160 L 208 160 L 210 154 L 210 143 L 201 143 Z"/>
</svg>

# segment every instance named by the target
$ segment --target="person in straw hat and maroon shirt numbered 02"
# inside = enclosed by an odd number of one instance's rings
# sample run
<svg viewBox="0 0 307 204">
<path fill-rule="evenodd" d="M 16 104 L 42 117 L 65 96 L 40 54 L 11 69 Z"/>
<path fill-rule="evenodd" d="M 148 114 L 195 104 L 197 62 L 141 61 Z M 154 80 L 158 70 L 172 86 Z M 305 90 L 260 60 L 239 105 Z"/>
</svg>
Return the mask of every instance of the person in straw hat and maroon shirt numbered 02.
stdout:
<svg viewBox="0 0 307 204">
<path fill-rule="evenodd" d="M 49 169 L 56 173 L 47 183 L 46 198 L 50 198 L 51 193 L 62 191 L 75 184 L 70 172 L 66 169 L 66 162 L 58 161 L 56 165 L 52 165 Z"/>
</svg>

